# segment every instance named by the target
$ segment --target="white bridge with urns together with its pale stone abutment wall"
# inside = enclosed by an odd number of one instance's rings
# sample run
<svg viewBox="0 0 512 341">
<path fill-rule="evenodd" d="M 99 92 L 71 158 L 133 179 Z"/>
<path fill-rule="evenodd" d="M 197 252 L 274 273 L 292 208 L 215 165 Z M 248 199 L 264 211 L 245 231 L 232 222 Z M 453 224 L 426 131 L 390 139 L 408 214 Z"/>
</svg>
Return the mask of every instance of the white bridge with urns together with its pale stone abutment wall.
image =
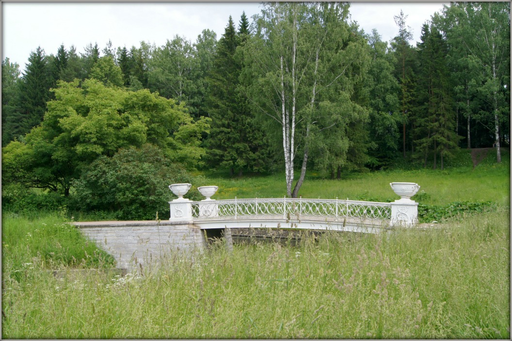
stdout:
<svg viewBox="0 0 512 341">
<path fill-rule="evenodd" d="M 417 223 L 418 204 L 409 199 L 419 189 L 415 183 L 392 183 L 391 187 L 401 197 L 392 203 L 303 198 L 212 200 L 217 186 L 199 187 L 206 199 L 191 201 L 183 198 L 191 184 L 169 187 L 178 196 L 169 202 L 169 221 L 73 224 L 113 255 L 118 267 L 133 270 L 169 252 L 204 250 L 208 235 L 223 235 L 226 247 L 232 249 L 231 229 L 236 228 L 379 233 Z"/>
</svg>

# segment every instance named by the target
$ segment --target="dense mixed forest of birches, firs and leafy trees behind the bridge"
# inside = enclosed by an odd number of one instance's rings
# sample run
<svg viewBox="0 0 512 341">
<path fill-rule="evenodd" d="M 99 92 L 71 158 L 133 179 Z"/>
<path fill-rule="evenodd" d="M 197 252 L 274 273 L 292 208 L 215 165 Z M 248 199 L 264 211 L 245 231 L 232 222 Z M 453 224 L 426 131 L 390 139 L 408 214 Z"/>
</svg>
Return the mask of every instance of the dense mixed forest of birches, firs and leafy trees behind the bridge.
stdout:
<svg viewBox="0 0 512 341">
<path fill-rule="evenodd" d="M 442 171 L 465 148 L 501 162 L 509 2 L 444 6 L 416 46 L 406 13 L 389 42 L 349 13 L 265 3 L 252 20 L 229 16 L 219 39 L 36 47 L 23 71 L 5 58 L 3 206 L 151 217 L 168 184 L 197 172 L 283 174 L 296 198 L 307 172 L 339 179 L 397 160 Z"/>
</svg>

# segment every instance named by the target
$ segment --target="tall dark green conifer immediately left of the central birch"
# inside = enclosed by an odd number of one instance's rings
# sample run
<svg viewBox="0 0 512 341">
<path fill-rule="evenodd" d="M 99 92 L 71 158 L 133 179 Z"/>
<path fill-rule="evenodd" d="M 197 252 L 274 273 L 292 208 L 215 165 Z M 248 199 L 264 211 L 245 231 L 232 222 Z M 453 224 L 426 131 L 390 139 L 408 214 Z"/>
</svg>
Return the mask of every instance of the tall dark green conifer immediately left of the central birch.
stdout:
<svg viewBox="0 0 512 341">
<path fill-rule="evenodd" d="M 212 119 L 206 142 L 210 148 L 208 161 L 212 167 L 228 169 L 231 176 L 264 168 L 261 150 L 264 137 L 248 110 L 240 82 L 242 57 L 237 55 L 239 43 L 239 35 L 229 16 L 228 25 L 217 43 L 214 67 L 207 77 L 206 103 Z"/>
</svg>

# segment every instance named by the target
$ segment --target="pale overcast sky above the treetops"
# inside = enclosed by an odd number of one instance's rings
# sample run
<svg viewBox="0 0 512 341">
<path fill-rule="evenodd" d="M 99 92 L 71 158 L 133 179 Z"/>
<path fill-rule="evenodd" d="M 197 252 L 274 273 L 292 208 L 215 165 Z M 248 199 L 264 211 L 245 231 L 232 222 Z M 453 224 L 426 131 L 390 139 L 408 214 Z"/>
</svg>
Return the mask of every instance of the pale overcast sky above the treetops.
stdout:
<svg viewBox="0 0 512 341">
<path fill-rule="evenodd" d="M 444 3 L 447 4 L 447 3 Z M 352 2 L 351 19 L 370 33 L 377 29 L 382 40 L 390 41 L 398 29 L 393 16 L 400 9 L 408 15 L 407 25 L 419 41 L 421 26 L 439 12 L 441 2 Z M 56 54 L 63 43 L 75 45 L 78 53 L 89 43 L 100 50 L 109 39 L 114 47 L 140 46 L 141 41 L 161 46 L 175 35 L 196 41 L 204 29 L 224 33 L 228 17 L 238 21 L 245 11 L 250 18 L 260 13 L 258 2 L 157 2 L 157 3 L 17 3 L 2 2 L 2 60 L 17 62 L 20 70 L 32 51 L 41 46 Z M 252 21 L 252 20 L 250 20 Z"/>
</svg>

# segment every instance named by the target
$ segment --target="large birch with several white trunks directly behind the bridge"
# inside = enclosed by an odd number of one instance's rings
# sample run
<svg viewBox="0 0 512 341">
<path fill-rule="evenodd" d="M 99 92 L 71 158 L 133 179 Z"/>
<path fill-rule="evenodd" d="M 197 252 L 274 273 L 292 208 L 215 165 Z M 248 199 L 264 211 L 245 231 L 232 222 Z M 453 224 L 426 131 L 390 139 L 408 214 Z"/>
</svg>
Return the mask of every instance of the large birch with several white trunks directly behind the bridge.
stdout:
<svg viewBox="0 0 512 341">
<path fill-rule="evenodd" d="M 347 23 L 348 8 L 347 3 L 266 3 L 255 16 L 255 35 L 247 44 L 249 99 L 281 127 L 288 197 L 296 198 L 304 181 L 312 139 L 342 125 L 347 111 L 357 113 L 351 80 L 360 77 L 356 65 L 366 58 L 365 42 L 352 39 L 357 32 Z M 299 149 L 301 174 L 292 190 Z"/>
</svg>

